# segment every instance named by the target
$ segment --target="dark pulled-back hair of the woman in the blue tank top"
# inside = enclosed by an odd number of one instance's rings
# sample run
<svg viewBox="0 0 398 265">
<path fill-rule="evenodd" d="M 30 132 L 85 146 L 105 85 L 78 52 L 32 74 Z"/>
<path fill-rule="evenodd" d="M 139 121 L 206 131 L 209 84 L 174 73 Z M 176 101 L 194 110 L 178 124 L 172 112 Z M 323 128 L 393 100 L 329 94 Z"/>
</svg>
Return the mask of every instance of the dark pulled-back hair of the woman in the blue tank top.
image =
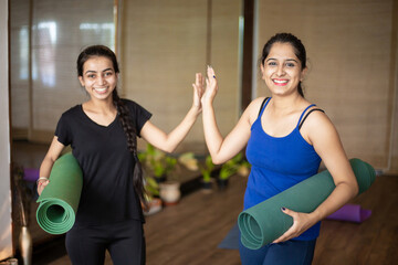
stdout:
<svg viewBox="0 0 398 265">
<path fill-rule="evenodd" d="M 260 62 L 262 65 L 264 65 L 264 61 L 266 56 L 270 54 L 271 47 L 274 43 L 289 43 L 294 49 L 294 54 L 297 56 L 297 59 L 301 62 L 301 67 L 304 70 L 306 67 L 306 52 L 303 43 L 298 38 L 291 33 L 277 33 L 274 36 L 272 36 L 264 45 L 262 55 L 260 59 Z M 297 91 L 302 97 L 304 97 L 303 87 L 301 85 L 301 82 L 298 82 Z"/>
</svg>

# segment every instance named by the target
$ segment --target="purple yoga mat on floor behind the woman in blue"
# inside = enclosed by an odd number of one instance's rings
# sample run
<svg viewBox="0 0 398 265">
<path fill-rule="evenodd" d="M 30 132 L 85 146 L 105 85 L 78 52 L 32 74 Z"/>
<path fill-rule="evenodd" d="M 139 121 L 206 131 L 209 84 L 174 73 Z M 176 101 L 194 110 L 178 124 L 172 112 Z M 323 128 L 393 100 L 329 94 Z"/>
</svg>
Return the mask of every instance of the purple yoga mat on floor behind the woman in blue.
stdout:
<svg viewBox="0 0 398 265">
<path fill-rule="evenodd" d="M 338 209 L 336 212 L 328 215 L 328 220 L 349 221 L 355 223 L 362 223 L 367 220 L 371 214 L 370 210 L 363 209 L 357 204 L 346 204 Z"/>
</svg>

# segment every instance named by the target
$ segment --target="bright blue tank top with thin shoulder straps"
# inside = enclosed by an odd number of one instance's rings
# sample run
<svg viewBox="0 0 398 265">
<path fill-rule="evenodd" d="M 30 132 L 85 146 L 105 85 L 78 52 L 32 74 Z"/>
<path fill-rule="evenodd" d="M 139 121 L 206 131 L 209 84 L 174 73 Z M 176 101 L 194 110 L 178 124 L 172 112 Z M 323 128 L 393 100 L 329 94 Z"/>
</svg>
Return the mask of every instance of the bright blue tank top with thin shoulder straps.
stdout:
<svg viewBox="0 0 398 265">
<path fill-rule="evenodd" d="M 268 135 L 261 125 L 261 116 L 271 100 L 268 99 L 258 119 L 251 127 L 247 147 L 247 158 L 251 171 L 244 193 L 244 210 L 317 173 L 321 157 L 300 134 L 300 123 L 310 105 L 301 114 L 296 127 L 284 137 Z M 321 222 L 305 231 L 295 240 L 310 241 L 320 234 Z"/>
</svg>

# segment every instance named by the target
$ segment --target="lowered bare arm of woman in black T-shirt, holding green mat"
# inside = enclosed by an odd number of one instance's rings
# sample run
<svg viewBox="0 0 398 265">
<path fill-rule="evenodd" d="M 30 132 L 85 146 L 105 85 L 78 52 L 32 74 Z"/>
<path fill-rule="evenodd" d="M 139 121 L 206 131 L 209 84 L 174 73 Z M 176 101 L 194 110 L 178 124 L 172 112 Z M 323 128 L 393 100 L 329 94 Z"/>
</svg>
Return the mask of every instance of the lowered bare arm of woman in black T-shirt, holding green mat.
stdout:
<svg viewBox="0 0 398 265">
<path fill-rule="evenodd" d="M 60 153 L 62 152 L 62 150 L 64 149 L 64 145 L 62 145 L 59 140 L 57 137 L 54 136 L 51 146 L 49 148 L 49 151 L 46 152 L 41 166 L 40 166 L 40 171 L 39 171 L 39 176 L 40 178 L 50 178 L 50 173 L 51 173 L 51 169 L 55 162 L 55 160 L 60 157 Z M 45 179 L 41 179 L 38 183 L 38 193 L 39 195 L 42 193 L 42 191 L 44 190 L 45 186 L 48 186 L 49 181 Z"/>
</svg>

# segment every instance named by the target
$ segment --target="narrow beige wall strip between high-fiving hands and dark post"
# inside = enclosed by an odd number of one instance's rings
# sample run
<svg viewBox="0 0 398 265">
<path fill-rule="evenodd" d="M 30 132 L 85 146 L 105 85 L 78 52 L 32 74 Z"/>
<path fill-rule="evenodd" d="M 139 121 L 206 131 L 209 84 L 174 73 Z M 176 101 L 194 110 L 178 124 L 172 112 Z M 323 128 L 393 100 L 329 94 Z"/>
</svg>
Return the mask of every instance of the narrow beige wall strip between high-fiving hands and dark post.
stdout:
<svg viewBox="0 0 398 265">
<path fill-rule="evenodd" d="M 239 15 L 241 1 L 212 1 L 211 62 L 219 92 L 214 110 L 220 131 L 226 136 L 240 116 Z"/>
</svg>

